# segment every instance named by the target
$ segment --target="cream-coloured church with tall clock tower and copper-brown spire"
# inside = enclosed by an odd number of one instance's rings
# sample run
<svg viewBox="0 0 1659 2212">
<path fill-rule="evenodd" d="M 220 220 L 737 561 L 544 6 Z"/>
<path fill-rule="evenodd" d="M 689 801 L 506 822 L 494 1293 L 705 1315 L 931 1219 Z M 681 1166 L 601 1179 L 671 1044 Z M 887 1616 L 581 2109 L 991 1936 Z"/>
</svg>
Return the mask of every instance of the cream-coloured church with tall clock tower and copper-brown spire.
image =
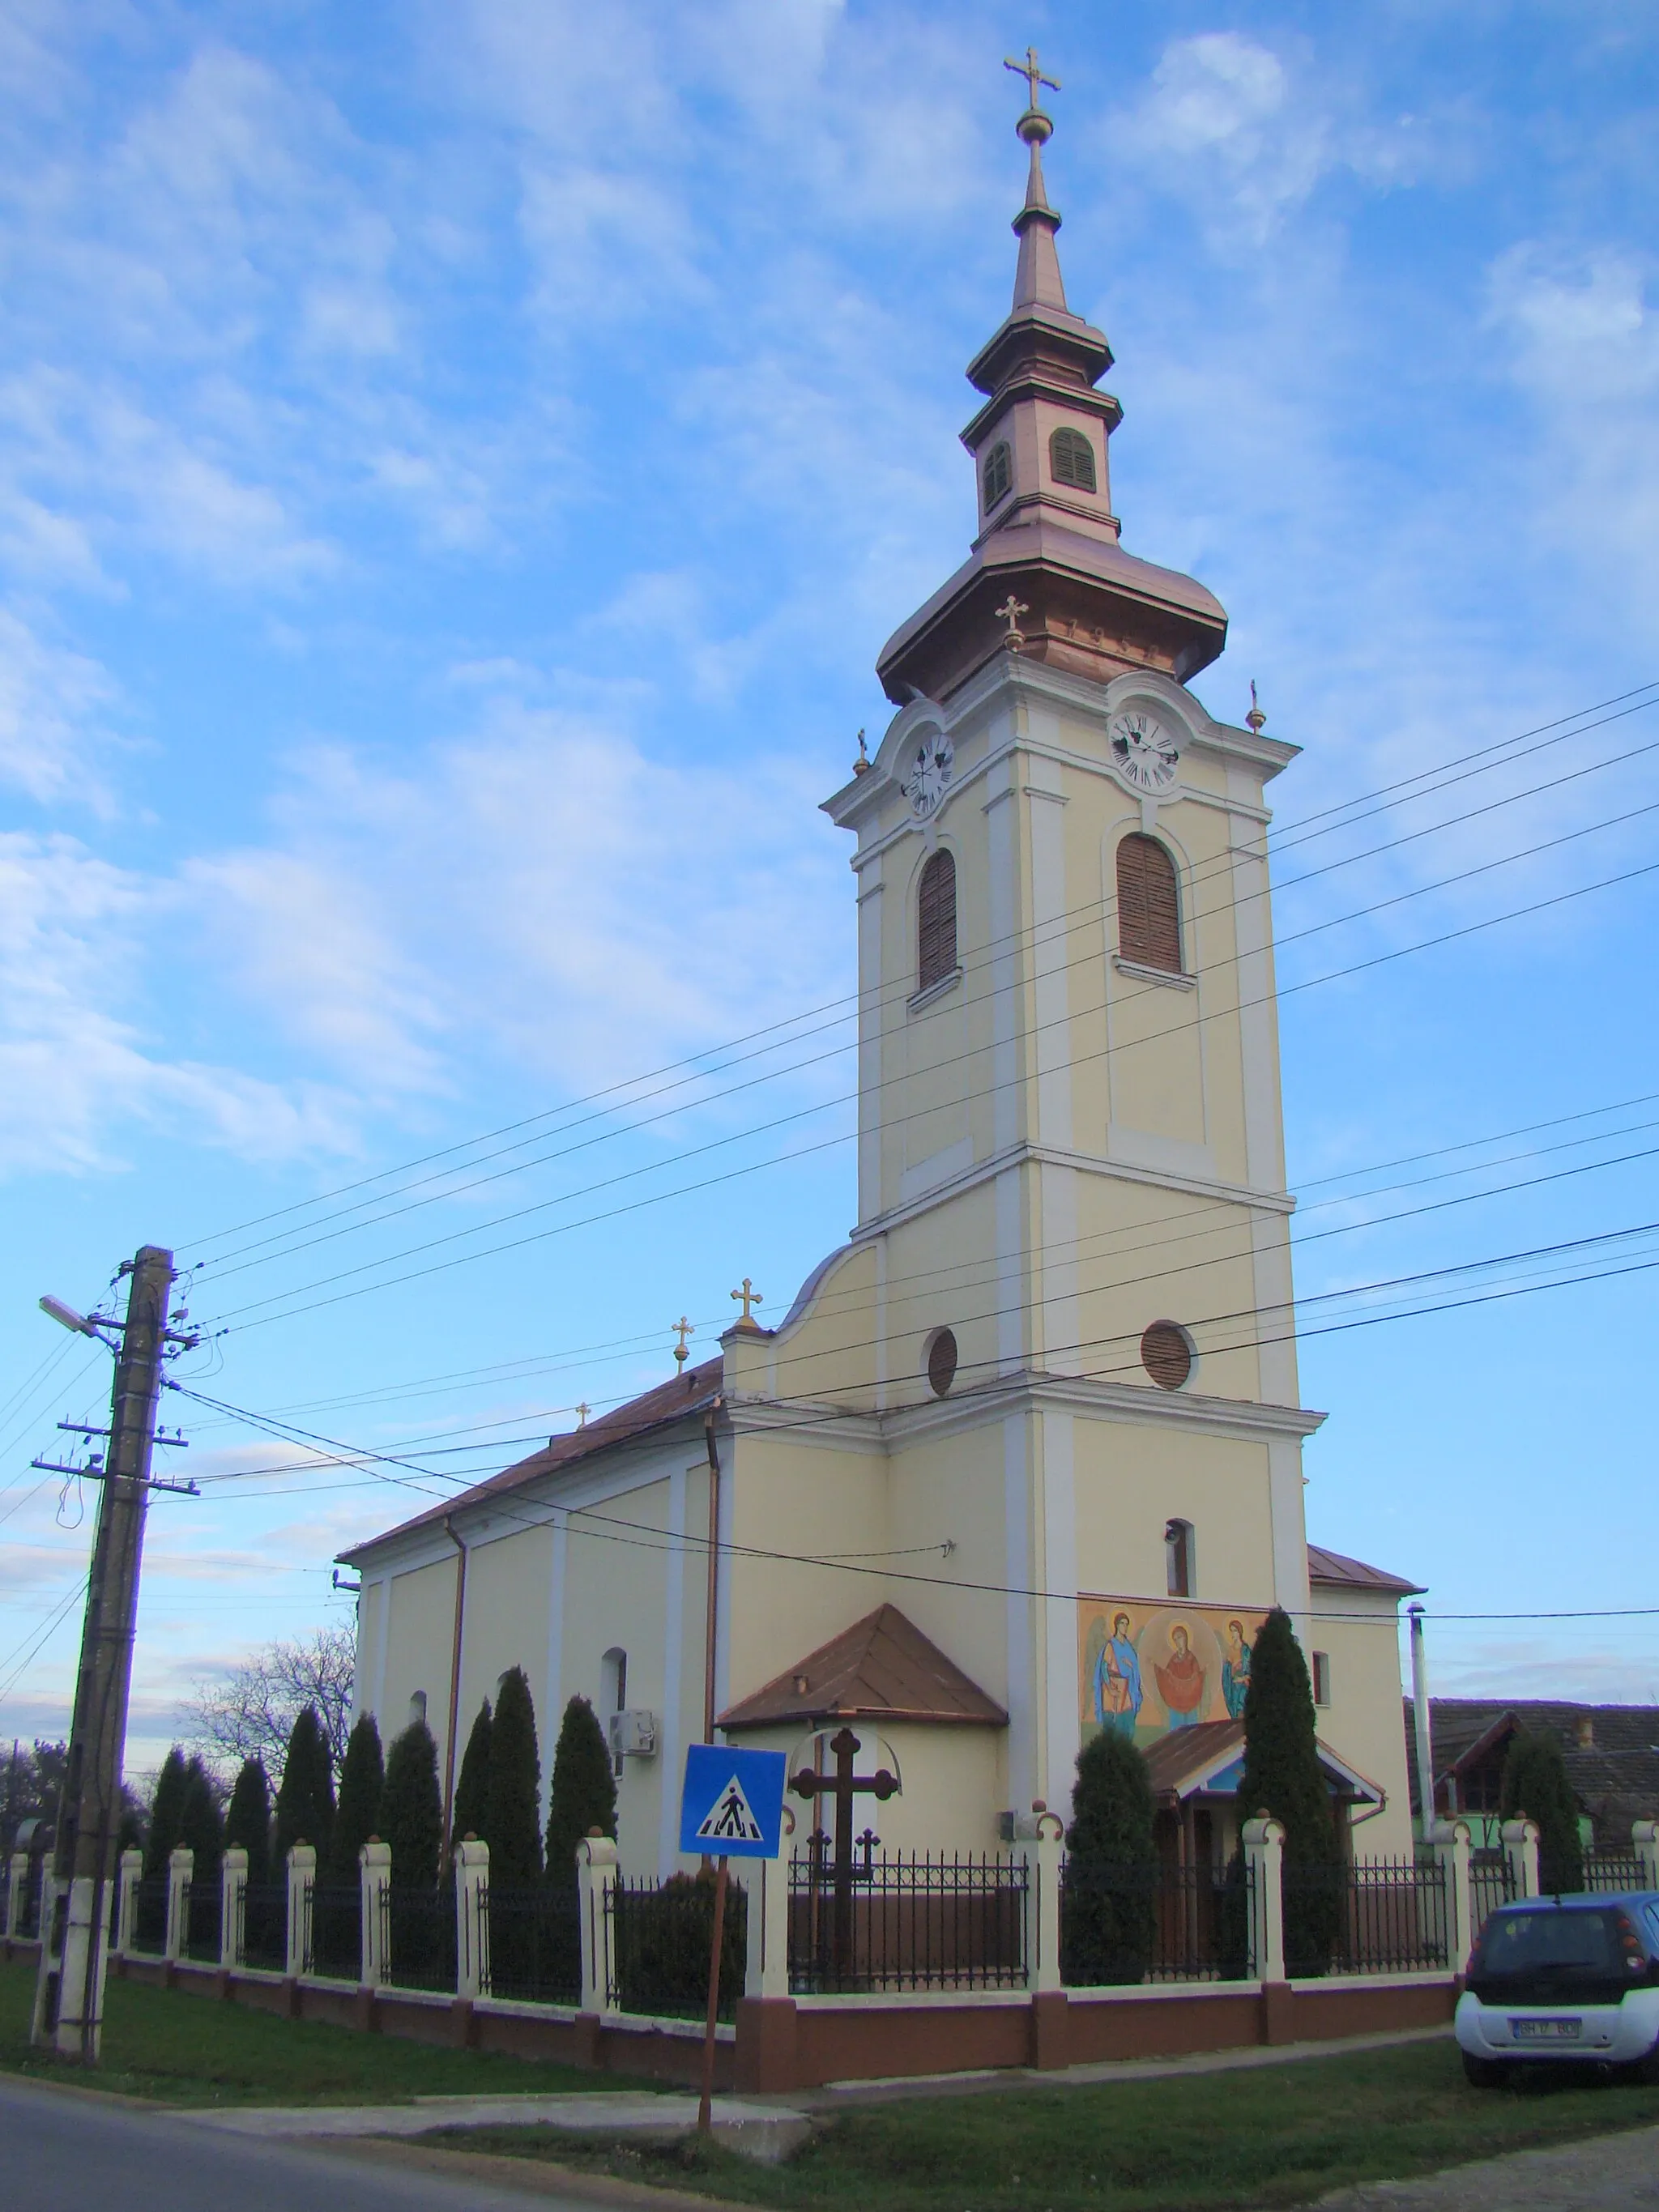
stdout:
<svg viewBox="0 0 1659 2212">
<path fill-rule="evenodd" d="M 686 1745 L 834 1767 L 887 1849 L 1071 1807 L 1102 1728 L 1164 1849 L 1232 1845 L 1263 1615 L 1307 1652 L 1356 1851 L 1411 1849 L 1396 1615 L 1310 1546 L 1267 785 L 1294 745 L 1188 681 L 1228 617 L 1121 546 L 1099 330 L 1042 148 L 1013 305 L 969 363 L 978 535 L 878 659 L 896 712 L 825 812 L 854 841 L 858 1221 L 776 1327 L 345 1553 L 358 1710 L 458 1736 L 504 1670 L 611 1728 L 626 1874 L 670 1874 Z M 770 1303 L 770 1301 L 768 1301 Z M 803 1818 L 801 1829 L 810 1825 Z"/>
</svg>

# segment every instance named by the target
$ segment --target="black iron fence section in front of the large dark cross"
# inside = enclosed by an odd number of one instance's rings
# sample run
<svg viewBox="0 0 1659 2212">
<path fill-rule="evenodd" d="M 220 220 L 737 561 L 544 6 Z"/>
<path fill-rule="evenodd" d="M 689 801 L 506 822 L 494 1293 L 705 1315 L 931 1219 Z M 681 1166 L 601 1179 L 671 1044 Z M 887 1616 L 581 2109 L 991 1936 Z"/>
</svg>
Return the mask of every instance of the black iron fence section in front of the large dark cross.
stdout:
<svg viewBox="0 0 1659 2212">
<path fill-rule="evenodd" d="M 790 1989 L 1022 1989 L 1029 1878 L 993 1851 L 790 1858 Z"/>
</svg>

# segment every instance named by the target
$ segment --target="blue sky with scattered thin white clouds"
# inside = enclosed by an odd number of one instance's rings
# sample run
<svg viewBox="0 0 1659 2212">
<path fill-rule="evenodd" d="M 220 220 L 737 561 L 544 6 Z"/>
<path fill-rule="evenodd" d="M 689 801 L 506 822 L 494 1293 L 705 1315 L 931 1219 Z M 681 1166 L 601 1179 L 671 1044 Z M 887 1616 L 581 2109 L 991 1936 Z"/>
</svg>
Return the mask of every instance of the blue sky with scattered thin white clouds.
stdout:
<svg viewBox="0 0 1659 2212">
<path fill-rule="evenodd" d="M 1648 9 L 13 0 L 0 1730 L 64 1725 L 91 1515 L 29 1460 L 106 1391 L 42 1290 L 173 1243 L 226 1327 L 181 1380 L 482 1473 L 845 1234 L 816 807 L 973 529 L 1026 42 L 1124 542 L 1228 606 L 1203 699 L 1254 677 L 1305 748 L 1285 1097 L 1303 1234 L 1340 1234 L 1301 1292 L 1659 1219 L 1659 706 L 1307 838 L 1659 679 Z M 538 1115 L 533 1155 L 449 1150 Z M 380 1228 L 319 1217 L 396 1183 L 281 1214 L 422 1155 Z M 1513 1615 L 1436 1621 L 1438 1688 L 1659 1697 L 1659 1624 L 1537 1617 L 1655 1601 L 1652 1281 L 1307 1338 L 1312 1535 Z M 137 1765 L 429 1484 L 173 1413 L 212 1480 L 153 1515 Z"/>
</svg>

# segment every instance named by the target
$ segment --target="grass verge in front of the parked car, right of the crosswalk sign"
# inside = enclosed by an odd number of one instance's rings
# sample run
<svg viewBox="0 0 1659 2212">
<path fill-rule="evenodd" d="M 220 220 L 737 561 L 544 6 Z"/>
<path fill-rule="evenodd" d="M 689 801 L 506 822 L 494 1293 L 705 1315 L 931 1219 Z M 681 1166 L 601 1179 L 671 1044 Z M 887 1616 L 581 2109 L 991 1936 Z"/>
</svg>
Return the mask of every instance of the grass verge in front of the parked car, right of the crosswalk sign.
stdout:
<svg viewBox="0 0 1659 2212">
<path fill-rule="evenodd" d="M 1575 2079 L 1473 2090 L 1447 2039 L 1166 2081 L 865 2106 L 776 2168 L 549 2128 L 469 2128 L 442 2141 L 776 2212 L 1214 2212 L 1307 2203 L 1356 2181 L 1652 2121 L 1659 2088 Z"/>
</svg>

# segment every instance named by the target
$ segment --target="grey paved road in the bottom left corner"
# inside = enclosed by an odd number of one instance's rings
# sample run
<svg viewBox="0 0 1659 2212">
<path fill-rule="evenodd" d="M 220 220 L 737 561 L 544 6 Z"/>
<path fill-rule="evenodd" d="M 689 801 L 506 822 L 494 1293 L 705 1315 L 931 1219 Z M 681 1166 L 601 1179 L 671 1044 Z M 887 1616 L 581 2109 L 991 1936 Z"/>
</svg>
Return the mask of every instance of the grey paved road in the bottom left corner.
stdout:
<svg viewBox="0 0 1659 2212">
<path fill-rule="evenodd" d="M 520 2190 L 0 2081 L 0 2197 L 44 2212 L 526 2212 Z M 540 2197 L 542 2205 L 591 2201 Z"/>
</svg>

